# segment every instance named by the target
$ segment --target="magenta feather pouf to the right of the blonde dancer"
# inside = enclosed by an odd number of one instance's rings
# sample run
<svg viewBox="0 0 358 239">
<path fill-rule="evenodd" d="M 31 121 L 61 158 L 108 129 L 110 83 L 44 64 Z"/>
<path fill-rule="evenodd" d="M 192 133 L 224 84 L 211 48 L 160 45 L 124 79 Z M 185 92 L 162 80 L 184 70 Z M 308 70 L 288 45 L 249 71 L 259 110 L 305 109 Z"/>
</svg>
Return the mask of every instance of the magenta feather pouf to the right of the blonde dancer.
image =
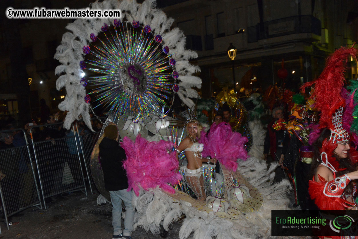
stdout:
<svg viewBox="0 0 358 239">
<path fill-rule="evenodd" d="M 236 171 L 237 159 L 246 160 L 245 143 L 247 138 L 238 132 L 232 132 L 226 122 L 212 124 L 209 133 L 201 134 L 199 142 L 204 144 L 202 155 L 217 158 L 226 168 Z"/>
</svg>

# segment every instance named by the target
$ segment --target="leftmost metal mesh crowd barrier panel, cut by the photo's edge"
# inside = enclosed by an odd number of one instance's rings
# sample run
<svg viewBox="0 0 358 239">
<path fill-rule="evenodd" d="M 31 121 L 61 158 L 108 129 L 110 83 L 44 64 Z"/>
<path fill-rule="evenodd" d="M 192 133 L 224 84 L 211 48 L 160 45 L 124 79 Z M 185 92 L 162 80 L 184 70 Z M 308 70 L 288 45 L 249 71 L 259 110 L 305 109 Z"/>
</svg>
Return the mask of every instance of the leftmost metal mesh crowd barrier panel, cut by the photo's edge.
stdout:
<svg viewBox="0 0 358 239">
<path fill-rule="evenodd" d="M 13 143 L 18 147 L 0 150 L 0 196 L 9 229 L 9 216 L 32 206 L 42 209 L 42 204 L 26 133 L 23 129 L 11 129 L 0 134 L 6 132 L 19 132 L 13 135 Z"/>
</svg>

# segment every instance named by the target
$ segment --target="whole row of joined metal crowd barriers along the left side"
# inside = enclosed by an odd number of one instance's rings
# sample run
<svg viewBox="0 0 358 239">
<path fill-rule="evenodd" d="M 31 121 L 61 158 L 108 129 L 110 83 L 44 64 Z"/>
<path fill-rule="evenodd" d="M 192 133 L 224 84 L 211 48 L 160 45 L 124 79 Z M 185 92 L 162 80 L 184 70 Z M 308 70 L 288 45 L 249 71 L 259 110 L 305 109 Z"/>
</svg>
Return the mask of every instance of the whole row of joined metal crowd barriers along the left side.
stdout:
<svg viewBox="0 0 358 239">
<path fill-rule="evenodd" d="M 90 161 L 100 132 L 80 135 L 76 126 L 71 132 L 75 135 L 70 137 L 44 140 L 37 134 L 40 128 L 44 132 L 61 125 L 31 126 L 29 135 L 23 129 L 0 131 L 19 131 L 21 135 L 17 137 L 23 138 L 23 145 L 0 150 L 1 208 L 8 229 L 9 216 L 32 206 L 46 208 L 45 199 L 49 197 L 71 191 L 82 191 L 87 196 L 86 181 L 93 194 Z"/>
</svg>

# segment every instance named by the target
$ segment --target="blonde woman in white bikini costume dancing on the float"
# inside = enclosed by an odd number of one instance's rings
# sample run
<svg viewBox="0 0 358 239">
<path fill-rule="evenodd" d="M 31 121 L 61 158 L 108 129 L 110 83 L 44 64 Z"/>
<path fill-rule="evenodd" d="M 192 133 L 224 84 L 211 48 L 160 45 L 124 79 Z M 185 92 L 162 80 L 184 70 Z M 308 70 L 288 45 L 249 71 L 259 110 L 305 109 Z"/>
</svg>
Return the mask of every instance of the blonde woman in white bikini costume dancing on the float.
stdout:
<svg viewBox="0 0 358 239">
<path fill-rule="evenodd" d="M 188 165 L 184 169 L 185 181 L 187 181 L 190 189 L 195 193 L 197 200 L 205 201 L 206 193 L 204 188 L 204 180 L 202 173 L 203 162 L 216 163 L 216 158 L 203 158 L 201 152 L 203 144 L 198 143 L 202 126 L 197 120 L 191 120 L 186 125 L 188 136 L 185 137 L 176 149 L 177 153 L 185 150 L 185 157 Z"/>
</svg>

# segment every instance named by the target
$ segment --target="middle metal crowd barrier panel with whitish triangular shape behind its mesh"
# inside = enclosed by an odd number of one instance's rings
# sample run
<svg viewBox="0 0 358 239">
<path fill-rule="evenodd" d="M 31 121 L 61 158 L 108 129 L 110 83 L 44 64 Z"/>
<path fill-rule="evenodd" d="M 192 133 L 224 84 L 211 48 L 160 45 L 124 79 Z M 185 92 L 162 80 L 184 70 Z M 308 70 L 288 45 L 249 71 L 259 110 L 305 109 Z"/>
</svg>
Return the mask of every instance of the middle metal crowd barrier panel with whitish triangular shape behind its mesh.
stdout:
<svg viewBox="0 0 358 239">
<path fill-rule="evenodd" d="M 87 196 L 85 179 L 89 178 L 89 171 L 84 163 L 81 147 L 83 139 L 78 137 L 78 130 L 72 127 L 72 135 L 73 132 L 76 134 L 71 137 L 35 142 L 34 130 L 61 124 L 37 125 L 30 130 L 45 208 L 45 199 L 54 195 L 82 191 Z"/>
</svg>

